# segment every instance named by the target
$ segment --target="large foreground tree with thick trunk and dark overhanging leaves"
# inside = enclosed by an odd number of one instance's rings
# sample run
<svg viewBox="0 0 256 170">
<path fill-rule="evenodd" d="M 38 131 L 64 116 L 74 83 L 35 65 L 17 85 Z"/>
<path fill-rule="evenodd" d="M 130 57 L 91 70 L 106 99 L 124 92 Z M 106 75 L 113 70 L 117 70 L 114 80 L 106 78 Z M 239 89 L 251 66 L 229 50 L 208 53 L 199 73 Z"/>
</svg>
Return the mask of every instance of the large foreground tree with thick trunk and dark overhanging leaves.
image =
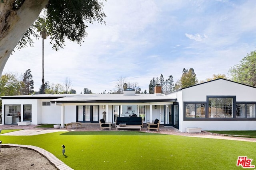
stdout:
<svg viewBox="0 0 256 170">
<path fill-rule="evenodd" d="M 98 0 L 1 0 L 0 1 L 0 75 L 17 48 L 33 44 L 34 21 L 45 9 L 46 27 L 53 49 L 63 48 L 65 39 L 81 45 L 87 35 L 85 22 L 104 23 L 103 4 Z"/>
</svg>

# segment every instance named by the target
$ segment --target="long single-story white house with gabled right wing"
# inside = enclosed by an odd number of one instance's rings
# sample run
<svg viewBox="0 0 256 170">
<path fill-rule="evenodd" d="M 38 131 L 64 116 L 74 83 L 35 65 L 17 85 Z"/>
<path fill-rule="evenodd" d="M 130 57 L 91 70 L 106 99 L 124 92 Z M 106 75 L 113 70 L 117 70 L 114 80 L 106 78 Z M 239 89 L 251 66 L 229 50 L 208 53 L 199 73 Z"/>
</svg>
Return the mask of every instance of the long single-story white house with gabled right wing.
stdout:
<svg viewBox="0 0 256 170">
<path fill-rule="evenodd" d="M 186 127 L 202 130 L 256 130 L 256 88 L 217 79 L 161 94 L 39 94 L 2 97 L 1 124 L 82 122 L 99 123 L 106 111 L 106 121 L 137 115 L 144 123 L 159 119 L 164 126 L 180 131 Z"/>
</svg>

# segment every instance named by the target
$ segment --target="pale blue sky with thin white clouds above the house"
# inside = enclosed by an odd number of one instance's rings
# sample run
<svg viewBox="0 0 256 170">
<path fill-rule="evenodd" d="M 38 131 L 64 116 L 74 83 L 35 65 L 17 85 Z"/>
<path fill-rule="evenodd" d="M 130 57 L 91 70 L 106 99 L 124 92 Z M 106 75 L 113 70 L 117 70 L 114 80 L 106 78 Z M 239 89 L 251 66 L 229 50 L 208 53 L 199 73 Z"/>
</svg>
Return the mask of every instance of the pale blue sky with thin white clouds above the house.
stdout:
<svg viewBox="0 0 256 170">
<path fill-rule="evenodd" d="M 44 79 L 64 84 L 70 78 L 77 94 L 116 89 L 120 77 L 144 92 L 153 77 L 194 68 L 198 81 L 225 74 L 256 50 L 254 0 L 107 0 L 106 25 L 87 24 L 84 43 L 66 41 L 52 50 L 44 41 Z M 5 72 L 31 70 L 34 91 L 42 84 L 42 39 L 15 51 Z"/>
</svg>

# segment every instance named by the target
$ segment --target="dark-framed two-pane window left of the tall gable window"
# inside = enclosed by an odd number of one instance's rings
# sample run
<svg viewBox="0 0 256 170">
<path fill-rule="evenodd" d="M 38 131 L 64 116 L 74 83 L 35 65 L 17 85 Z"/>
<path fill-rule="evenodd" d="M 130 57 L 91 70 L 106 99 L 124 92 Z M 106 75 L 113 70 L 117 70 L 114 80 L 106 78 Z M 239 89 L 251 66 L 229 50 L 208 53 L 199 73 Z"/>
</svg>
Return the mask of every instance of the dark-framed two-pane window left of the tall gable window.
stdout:
<svg viewBox="0 0 256 170">
<path fill-rule="evenodd" d="M 205 104 L 185 104 L 186 117 L 205 118 Z"/>
</svg>

